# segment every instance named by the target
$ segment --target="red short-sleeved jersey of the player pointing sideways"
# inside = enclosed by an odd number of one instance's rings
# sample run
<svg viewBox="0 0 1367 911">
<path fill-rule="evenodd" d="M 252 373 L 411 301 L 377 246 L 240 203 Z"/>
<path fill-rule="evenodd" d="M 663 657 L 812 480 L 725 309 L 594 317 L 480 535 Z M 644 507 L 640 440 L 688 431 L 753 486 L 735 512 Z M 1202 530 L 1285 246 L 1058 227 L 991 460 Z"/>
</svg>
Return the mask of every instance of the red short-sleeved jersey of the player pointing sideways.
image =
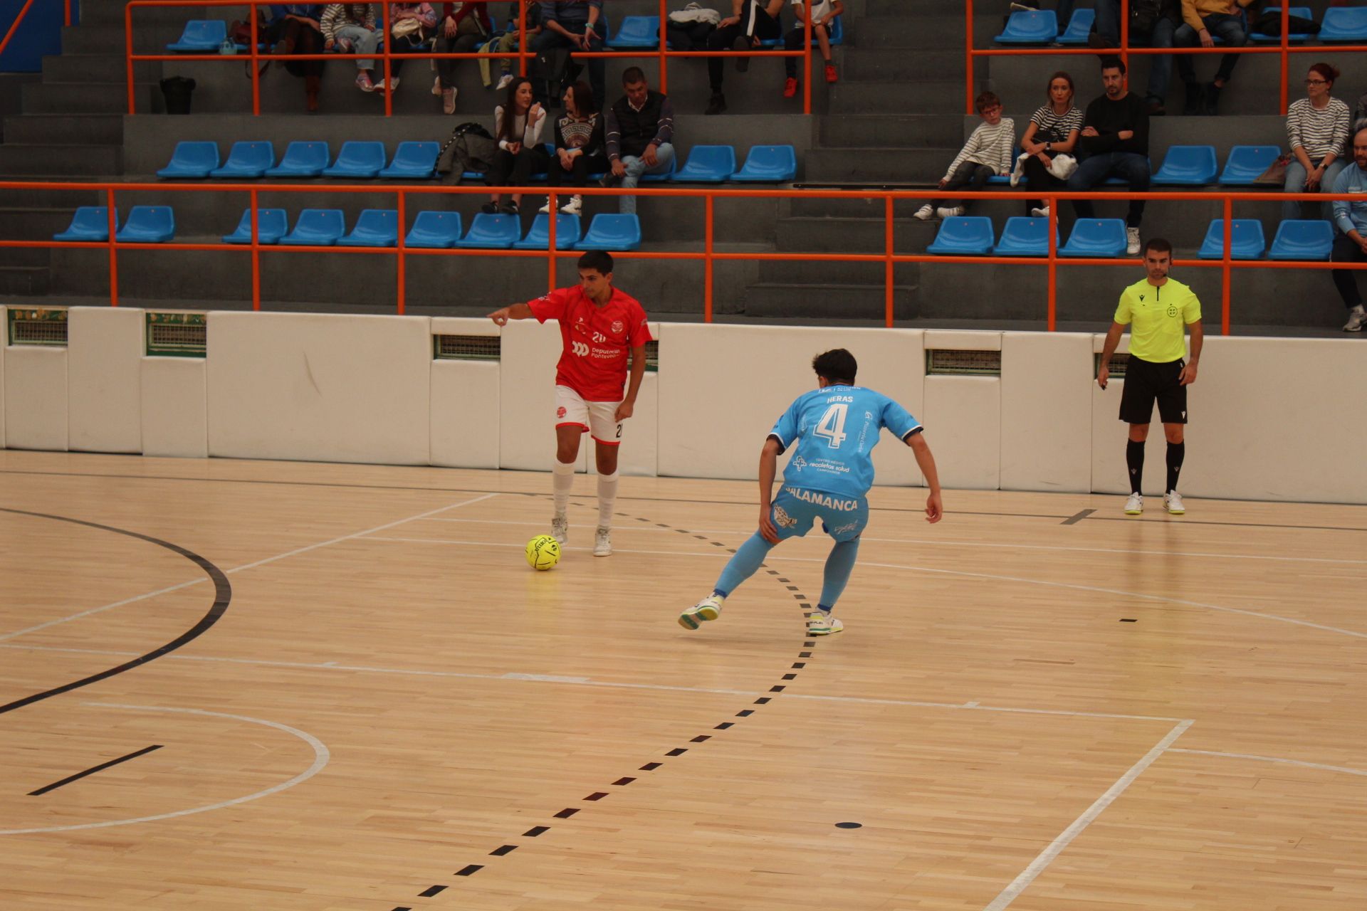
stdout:
<svg viewBox="0 0 1367 911">
<path fill-rule="evenodd" d="M 612 296 L 600 307 L 574 285 L 556 288 L 528 306 L 537 322 L 560 322 L 565 351 L 555 367 L 556 385 L 574 389 L 585 402 L 621 402 L 626 352 L 651 340 L 641 303 L 612 288 Z"/>
</svg>

